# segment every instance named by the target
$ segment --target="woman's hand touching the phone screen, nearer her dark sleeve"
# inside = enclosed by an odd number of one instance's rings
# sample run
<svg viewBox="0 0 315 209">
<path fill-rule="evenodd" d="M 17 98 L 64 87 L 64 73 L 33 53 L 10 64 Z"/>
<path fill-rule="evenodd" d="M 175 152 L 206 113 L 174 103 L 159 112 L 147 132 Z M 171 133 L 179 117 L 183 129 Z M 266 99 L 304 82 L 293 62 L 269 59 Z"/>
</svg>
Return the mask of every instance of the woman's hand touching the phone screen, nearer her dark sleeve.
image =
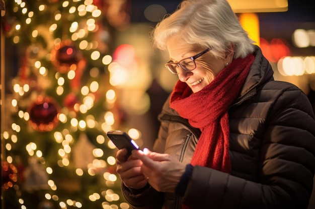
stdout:
<svg viewBox="0 0 315 209">
<path fill-rule="evenodd" d="M 142 161 L 141 172 L 157 191 L 174 192 L 186 165 L 169 154 L 151 152 L 148 149 L 133 150 L 132 154 Z"/>
</svg>

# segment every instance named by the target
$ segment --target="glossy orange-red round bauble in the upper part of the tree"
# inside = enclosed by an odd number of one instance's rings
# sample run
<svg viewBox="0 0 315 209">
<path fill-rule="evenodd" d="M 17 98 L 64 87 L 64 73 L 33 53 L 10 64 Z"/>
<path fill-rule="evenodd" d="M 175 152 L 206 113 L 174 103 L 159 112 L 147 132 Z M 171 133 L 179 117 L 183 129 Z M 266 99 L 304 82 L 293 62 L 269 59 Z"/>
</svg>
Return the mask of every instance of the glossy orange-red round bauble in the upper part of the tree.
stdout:
<svg viewBox="0 0 315 209">
<path fill-rule="evenodd" d="M 51 51 L 51 63 L 59 73 L 76 70 L 77 64 L 81 59 L 81 51 L 70 40 L 57 44 Z"/>
</svg>

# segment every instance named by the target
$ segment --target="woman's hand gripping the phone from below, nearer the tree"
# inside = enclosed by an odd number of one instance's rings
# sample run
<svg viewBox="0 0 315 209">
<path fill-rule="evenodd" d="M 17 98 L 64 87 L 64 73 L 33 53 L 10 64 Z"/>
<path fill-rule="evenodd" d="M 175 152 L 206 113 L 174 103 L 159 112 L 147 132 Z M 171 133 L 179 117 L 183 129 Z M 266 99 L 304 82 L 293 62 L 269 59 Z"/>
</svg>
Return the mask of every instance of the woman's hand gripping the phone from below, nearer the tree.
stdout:
<svg viewBox="0 0 315 209">
<path fill-rule="evenodd" d="M 147 180 L 141 173 L 141 160 L 130 155 L 126 158 L 127 149 L 118 150 L 116 154 L 116 171 L 123 183 L 130 188 L 143 188 Z"/>
</svg>

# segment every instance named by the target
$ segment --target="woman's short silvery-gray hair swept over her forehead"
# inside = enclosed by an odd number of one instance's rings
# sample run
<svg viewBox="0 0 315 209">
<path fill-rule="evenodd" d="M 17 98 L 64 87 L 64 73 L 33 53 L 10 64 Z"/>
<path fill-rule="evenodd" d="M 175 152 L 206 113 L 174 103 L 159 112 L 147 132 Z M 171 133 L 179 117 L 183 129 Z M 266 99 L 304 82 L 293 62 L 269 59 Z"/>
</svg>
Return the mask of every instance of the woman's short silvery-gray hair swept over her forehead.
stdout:
<svg viewBox="0 0 315 209">
<path fill-rule="evenodd" d="M 195 47 L 211 47 L 214 56 L 223 57 L 234 44 L 234 59 L 254 51 L 248 37 L 226 0 L 185 0 L 171 15 L 156 25 L 152 33 L 153 47 L 166 50 L 173 36 L 179 43 Z"/>
</svg>

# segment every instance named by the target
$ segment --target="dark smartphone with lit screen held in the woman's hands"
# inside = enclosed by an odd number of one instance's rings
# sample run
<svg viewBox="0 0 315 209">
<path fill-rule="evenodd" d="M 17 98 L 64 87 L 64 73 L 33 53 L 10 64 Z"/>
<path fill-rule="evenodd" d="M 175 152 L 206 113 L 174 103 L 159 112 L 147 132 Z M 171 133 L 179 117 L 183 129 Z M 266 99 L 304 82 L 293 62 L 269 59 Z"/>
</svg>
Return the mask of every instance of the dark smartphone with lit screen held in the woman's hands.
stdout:
<svg viewBox="0 0 315 209">
<path fill-rule="evenodd" d="M 124 131 L 107 131 L 106 135 L 118 149 L 127 148 L 127 156 L 131 155 L 133 149 L 139 149 L 139 146 Z"/>
</svg>

